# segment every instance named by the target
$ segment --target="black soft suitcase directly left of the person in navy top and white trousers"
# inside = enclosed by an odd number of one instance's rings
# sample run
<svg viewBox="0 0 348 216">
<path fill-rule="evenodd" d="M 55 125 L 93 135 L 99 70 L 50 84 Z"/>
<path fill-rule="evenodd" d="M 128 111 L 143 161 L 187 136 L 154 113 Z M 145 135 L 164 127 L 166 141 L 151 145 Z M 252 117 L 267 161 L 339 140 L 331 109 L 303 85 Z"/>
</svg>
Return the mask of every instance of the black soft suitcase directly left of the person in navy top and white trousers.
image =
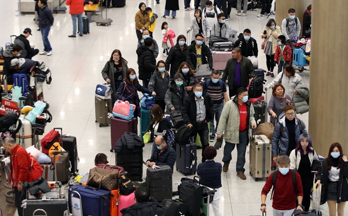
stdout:
<svg viewBox="0 0 348 216">
<path fill-rule="evenodd" d="M 193 179 L 199 178 L 194 176 Z M 180 184 L 179 199 L 183 201 L 189 208 L 187 216 L 200 215 L 201 203 L 203 197 L 203 186 L 191 181 L 183 181 Z"/>
</svg>

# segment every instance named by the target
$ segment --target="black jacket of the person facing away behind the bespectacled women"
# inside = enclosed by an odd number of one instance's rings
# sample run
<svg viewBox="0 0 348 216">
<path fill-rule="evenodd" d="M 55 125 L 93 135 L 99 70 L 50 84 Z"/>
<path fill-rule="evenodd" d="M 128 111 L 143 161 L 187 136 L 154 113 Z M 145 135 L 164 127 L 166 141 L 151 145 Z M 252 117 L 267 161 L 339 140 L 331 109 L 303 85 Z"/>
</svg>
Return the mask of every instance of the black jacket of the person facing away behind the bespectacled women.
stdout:
<svg viewBox="0 0 348 216">
<path fill-rule="evenodd" d="M 156 59 L 154 52 L 147 46 L 143 45 L 137 49 L 138 65 L 139 65 L 139 79 L 150 80 L 151 75 L 156 70 Z"/>
</svg>

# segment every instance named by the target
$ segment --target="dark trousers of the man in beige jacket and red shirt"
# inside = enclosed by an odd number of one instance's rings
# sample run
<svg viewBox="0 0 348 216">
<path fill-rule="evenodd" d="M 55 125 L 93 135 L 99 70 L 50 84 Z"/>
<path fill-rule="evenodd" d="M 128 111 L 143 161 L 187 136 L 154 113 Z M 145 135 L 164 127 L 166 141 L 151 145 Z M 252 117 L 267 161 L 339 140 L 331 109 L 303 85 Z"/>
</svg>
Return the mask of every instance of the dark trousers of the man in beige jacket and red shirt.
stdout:
<svg viewBox="0 0 348 216">
<path fill-rule="evenodd" d="M 240 131 L 239 132 L 239 138 L 240 138 L 240 143 L 231 143 L 231 142 L 226 142 L 225 143 L 225 148 L 224 148 L 224 157 L 222 161 L 224 163 L 230 163 L 232 160 L 232 151 L 237 145 L 237 163 L 235 166 L 235 169 L 237 173 L 244 173 L 244 164 L 245 164 L 245 152 L 247 151 L 247 146 L 248 146 L 248 130 L 245 131 Z"/>
</svg>

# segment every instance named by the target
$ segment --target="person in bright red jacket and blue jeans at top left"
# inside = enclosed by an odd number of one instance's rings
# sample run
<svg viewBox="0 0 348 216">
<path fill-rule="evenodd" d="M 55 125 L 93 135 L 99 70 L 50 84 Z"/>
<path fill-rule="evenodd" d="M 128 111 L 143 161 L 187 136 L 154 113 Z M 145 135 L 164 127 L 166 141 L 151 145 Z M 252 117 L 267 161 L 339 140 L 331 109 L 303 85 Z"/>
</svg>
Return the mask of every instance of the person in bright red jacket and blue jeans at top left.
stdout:
<svg viewBox="0 0 348 216">
<path fill-rule="evenodd" d="M 83 23 L 82 23 L 82 13 L 84 12 L 84 0 L 67 0 L 67 5 L 70 6 L 69 13 L 73 20 L 73 34 L 68 37 L 76 37 L 76 18 L 78 20 L 79 35 L 82 37 L 83 33 Z"/>
</svg>

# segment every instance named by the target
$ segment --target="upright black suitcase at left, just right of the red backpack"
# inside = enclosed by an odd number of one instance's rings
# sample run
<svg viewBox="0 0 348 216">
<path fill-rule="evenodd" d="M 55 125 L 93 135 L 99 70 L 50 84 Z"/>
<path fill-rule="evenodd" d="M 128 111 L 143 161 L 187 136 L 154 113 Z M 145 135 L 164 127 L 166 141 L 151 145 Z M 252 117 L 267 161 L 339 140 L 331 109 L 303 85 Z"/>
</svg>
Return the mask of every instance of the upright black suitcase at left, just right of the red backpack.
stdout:
<svg viewBox="0 0 348 216">
<path fill-rule="evenodd" d="M 79 161 L 77 154 L 77 141 L 75 136 L 63 136 L 63 149 L 69 152 L 69 160 L 71 162 L 71 173 L 77 173 L 77 163 Z"/>
</svg>

